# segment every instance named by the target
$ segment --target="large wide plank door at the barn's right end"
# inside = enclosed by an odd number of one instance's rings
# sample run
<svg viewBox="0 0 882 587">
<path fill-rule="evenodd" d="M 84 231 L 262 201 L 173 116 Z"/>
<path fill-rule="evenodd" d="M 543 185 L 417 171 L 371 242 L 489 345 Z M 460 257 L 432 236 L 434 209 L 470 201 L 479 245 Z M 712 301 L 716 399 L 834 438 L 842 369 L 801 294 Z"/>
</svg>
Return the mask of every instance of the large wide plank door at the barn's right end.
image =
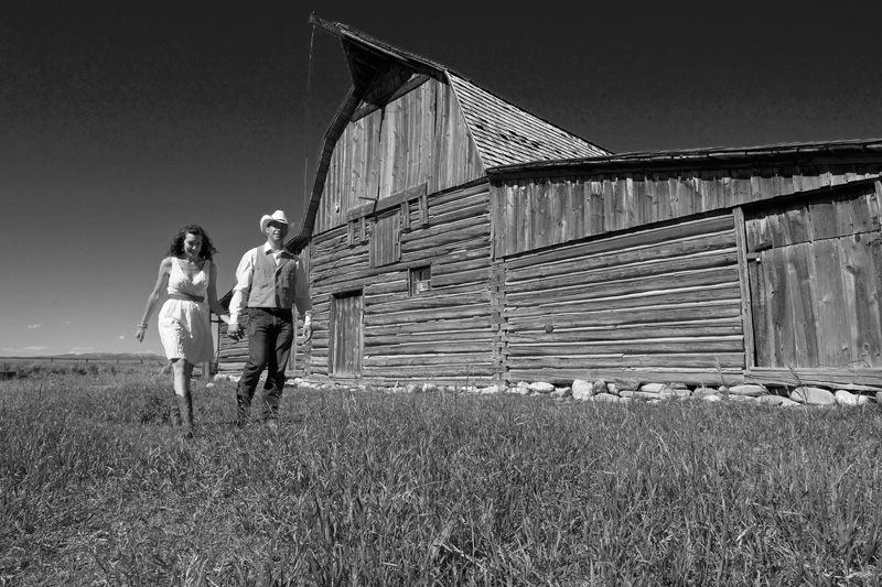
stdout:
<svg viewBox="0 0 882 587">
<path fill-rule="evenodd" d="M 745 214 L 755 366 L 882 368 L 873 185 Z"/>
</svg>

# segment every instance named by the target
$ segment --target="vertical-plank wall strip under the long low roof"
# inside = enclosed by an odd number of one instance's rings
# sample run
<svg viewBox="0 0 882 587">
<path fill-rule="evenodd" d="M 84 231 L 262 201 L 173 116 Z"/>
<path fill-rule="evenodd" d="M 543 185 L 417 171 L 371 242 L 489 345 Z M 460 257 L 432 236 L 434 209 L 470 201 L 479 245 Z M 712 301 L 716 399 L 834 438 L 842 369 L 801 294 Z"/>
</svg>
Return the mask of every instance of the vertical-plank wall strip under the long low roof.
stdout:
<svg viewBox="0 0 882 587">
<path fill-rule="evenodd" d="M 875 177 L 874 164 L 510 180 L 492 188 L 494 256 Z"/>
</svg>

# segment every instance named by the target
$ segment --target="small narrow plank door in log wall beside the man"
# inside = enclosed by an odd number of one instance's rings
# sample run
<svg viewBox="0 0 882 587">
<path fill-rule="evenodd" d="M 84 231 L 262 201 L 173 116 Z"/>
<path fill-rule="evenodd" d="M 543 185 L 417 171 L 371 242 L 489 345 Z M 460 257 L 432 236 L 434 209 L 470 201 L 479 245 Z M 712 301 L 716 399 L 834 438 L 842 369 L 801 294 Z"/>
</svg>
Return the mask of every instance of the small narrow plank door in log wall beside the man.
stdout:
<svg viewBox="0 0 882 587">
<path fill-rule="evenodd" d="M 327 349 L 329 374 L 362 374 L 362 292 L 346 292 L 331 298 L 331 340 Z"/>
</svg>

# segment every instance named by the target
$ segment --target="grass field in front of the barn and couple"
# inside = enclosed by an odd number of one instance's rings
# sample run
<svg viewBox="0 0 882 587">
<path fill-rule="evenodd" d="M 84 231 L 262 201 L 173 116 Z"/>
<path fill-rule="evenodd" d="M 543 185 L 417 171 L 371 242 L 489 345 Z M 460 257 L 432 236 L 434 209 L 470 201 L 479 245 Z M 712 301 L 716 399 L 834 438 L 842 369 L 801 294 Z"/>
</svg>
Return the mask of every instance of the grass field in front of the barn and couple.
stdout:
<svg viewBox="0 0 882 587">
<path fill-rule="evenodd" d="M 880 585 L 882 411 L 0 381 L 0 585 Z"/>
</svg>

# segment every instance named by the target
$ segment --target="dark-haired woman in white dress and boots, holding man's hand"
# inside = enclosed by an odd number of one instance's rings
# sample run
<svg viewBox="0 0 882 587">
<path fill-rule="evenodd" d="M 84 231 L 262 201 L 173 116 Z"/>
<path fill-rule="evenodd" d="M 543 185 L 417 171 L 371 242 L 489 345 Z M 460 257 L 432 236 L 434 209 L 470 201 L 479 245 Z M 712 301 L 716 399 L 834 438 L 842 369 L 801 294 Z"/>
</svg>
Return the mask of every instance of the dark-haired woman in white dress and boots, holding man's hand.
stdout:
<svg viewBox="0 0 882 587">
<path fill-rule="evenodd" d="M 224 307 L 217 301 L 217 269 L 212 262 L 215 252 L 212 239 L 201 227 L 189 225 L 178 231 L 169 247 L 168 257 L 159 265 L 157 284 L 147 298 L 144 317 L 135 334 L 139 343 L 143 341 L 147 323 L 160 294 L 168 289 L 169 298 L 159 312 L 159 336 L 174 372 L 176 405 L 172 406 L 172 423 L 182 423 L 185 438 L 193 436 L 193 400 L 190 392 L 193 366 L 211 361 L 214 357 L 209 308 L 229 324 L 229 315 L 224 313 Z"/>
</svg>

